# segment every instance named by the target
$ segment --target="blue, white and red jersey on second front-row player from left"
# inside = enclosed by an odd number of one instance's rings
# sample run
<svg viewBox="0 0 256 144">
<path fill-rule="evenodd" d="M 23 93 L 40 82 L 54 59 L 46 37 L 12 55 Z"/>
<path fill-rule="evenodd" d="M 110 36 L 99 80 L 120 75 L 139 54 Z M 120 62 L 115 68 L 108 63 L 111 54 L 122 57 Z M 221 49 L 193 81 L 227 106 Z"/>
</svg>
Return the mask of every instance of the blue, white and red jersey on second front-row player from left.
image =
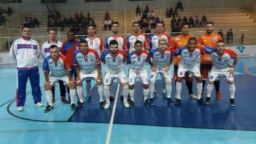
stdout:
<svg viewBox="0 0 256 144">
<path fill-rule="evenodd" d="M 87 54 L 83 54 L 80 49 L 74 52 L 74 65 L 79 65 L 80 71 L 90 73 L 100 64 L 100 58 L 94 49 L 88 49 Z"/>
</svg>

